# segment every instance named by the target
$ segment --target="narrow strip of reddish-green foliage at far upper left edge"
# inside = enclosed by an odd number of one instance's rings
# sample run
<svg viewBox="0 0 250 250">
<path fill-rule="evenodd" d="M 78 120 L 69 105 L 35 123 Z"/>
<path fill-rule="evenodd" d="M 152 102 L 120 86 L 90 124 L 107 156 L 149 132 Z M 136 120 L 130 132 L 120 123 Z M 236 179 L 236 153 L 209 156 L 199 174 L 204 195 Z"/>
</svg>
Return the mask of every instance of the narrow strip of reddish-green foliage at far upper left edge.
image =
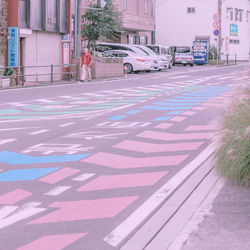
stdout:
<svg viewBox="0 0 250 250">
<path fill-rule="evenodd" d="M 6 54 L 6 39 L 8 34 L 7 7 L 7 0 L 0 0 L 0 66 L 4 65 Z"/>
</svg>

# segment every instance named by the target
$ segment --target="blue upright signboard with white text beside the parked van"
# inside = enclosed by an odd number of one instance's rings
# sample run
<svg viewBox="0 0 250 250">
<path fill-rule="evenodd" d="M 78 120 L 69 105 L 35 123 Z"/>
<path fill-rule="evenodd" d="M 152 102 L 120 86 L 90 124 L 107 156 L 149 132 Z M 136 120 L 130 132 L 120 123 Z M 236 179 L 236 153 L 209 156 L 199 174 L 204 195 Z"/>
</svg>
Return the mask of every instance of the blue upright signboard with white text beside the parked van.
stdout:
<svg viewBox="0 0 250 250">
<path fill-rule="evenodd" d="M 194 41 L 193 42 L 193 57 L 194 57 L 194 64 L 207 64 L 208 63 L 207 41 Z"/>
</svg>

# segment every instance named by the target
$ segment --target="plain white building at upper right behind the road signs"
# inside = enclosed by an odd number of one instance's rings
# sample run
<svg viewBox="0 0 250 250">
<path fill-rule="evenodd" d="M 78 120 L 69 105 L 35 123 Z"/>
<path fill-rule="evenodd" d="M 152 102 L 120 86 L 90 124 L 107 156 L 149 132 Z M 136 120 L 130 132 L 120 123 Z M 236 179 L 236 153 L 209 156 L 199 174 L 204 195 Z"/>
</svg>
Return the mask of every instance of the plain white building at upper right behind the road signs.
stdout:
<svg viewBox="0 0 250 250">
<path fill-rule="evenodd" d="M 195 40 L 217 44 L 213 15 L 218 0 L 156 0 L 156 43 L 192 46 Z M 248 60 L 250 48 L 250 1 L 222 0 L 222 57 L 235 54 Z"/>
</svg>

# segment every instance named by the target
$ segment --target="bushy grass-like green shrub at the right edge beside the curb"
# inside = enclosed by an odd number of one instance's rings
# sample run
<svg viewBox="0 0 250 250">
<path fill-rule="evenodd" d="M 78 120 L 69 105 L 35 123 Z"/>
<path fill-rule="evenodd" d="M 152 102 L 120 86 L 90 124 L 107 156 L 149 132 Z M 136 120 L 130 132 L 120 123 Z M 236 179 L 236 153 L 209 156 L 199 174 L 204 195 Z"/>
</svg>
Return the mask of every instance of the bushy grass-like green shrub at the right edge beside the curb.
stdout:
<svg viewBox="0 0 250 250">
<path fill-rule="evenodd" d="M 219 141 L 218 172 L 234 184 L 250 186 L 250 89 L 226 113 Z"/>
</svg>

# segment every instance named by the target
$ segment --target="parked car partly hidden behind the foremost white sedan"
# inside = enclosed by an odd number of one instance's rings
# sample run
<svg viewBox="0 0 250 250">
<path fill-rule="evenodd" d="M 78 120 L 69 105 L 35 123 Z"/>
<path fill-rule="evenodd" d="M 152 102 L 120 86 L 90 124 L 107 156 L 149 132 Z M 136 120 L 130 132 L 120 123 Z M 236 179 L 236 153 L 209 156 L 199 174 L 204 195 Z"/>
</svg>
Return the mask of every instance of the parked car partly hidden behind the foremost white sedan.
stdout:
<svg viewBox="0 0 250 250">
<path fill-rule="evenodd" d="M 148 70 L 145 71 L 151 71 L 151 70 L 155 70 L 157 68 L 157 61 L 155 60 L 155 58 L 153 58 L 151 55 L 149 55 L 148 53 L 146 53 L 143 50 L 140 50 L 136 47 L 134 47 L 133 45 L 130 44 L 121 44 L 121 43 L 99 43 L 98 47 L 96 48 L 96 52 L 98 54 L 102 53 L 103 51 L 107 51 L 107 50 L 123 50 L 123 51 L 131 51 L 135 54 L 137 54 L 138 56 L 142 56 L 142 57 L 147 57 L 147 60 L 149 60 L 151 67 Z"/>
</svg>

